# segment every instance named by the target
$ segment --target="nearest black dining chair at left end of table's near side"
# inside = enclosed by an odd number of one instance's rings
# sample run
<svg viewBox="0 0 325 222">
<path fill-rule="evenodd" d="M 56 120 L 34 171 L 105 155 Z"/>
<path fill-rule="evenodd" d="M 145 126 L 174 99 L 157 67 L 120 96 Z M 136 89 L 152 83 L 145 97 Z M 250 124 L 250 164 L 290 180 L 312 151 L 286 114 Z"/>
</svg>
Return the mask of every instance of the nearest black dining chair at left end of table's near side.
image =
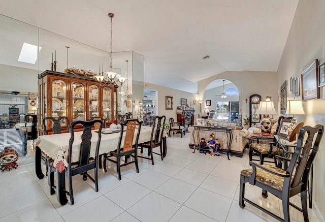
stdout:
<svg viewBox="0 0 325 222">
<path fill-rule="evenodd" d="M 90 149 L 91 149 L 91 128 L 94 124 L 99 123 L 99 133 L 97 134 L 97 142 L 95 147 L 95 156 L 90 156 Z M 82 125 L 83 126 L 83 133 L 81 135 L 81 141 L 79 141 L 79 138 L 76 139 L 76 142 L 80 142 L 79 146 L 79 158 L 77 158 L 78 162 L 72 162 L 72 145 L 75 141 L 75 126 L 76 125 Z M 71 138 L 69 140 L 69 148 L 68 148 L 68 167 L 66 167 L 64 170 L 65 175 L 68 178 L 69 183 L 69 192 L 68 195 L 70 195 L 70 201 L 71 205 L 74 204 L 74 197 L 73 197 L 73 188 L 72 188 L 72 177 L 78 174 L 83 174 L 83 180 L 87 180 L 89 178 L 94 184 L 95 184 L 95 192 L 98 192 L 98 157 L 99 157 L 99 148 L 102 138 L 102 125 L 103 121 L 99 119 L 95 119 L 92 121 L 74 121 L 71 123 L 70 126 L 70 134 Z M 55 193 L 56 186 L 54 185 L 54 172 L 58 170 L 56 167 L 64 167 L 62 164 L 60 166 L 54 166 L 54 161 L 49 164 L 50 171 L 49 171 L 49 177 L 50 177 L 50 190 L 51 195 Z M 59 163 L 57 163 L 58 165 Z M 94 169 L 94 178 L 91 177 L 88 174 L 88 171 Z"/>
</svg>

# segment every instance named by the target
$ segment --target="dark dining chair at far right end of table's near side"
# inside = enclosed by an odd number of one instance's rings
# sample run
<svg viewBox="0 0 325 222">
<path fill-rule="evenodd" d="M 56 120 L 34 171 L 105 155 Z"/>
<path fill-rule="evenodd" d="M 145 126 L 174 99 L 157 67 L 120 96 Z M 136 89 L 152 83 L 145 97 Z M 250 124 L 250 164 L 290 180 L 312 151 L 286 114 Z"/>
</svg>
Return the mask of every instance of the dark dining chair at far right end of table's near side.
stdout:
<svg viewBox="0 0 325 222">
<path fill-rule="evenodd" d="M 153 126 L 151 131 L 151 137 L 150 140 L 144 143 L 139 143 L 138 147 L 141 149 L 141 153 L 143 153 L 143 148 L 148 149 L 148 156 L 141 156 L 138 157 L 146 158 L 148 160 L 151 160 L 152 165 L 153 163 L 153 153 L 160 155 L 161 161 L 164 160 L 164 154 L 163 154 L 163 134 L 164 134 L 164 126 L 165 126 L 166 116 L 155 116 L 153 120 Z M 153 152 L 153 149 L 156 147 L 160 147 L 160 153 Z"/>
</svg>

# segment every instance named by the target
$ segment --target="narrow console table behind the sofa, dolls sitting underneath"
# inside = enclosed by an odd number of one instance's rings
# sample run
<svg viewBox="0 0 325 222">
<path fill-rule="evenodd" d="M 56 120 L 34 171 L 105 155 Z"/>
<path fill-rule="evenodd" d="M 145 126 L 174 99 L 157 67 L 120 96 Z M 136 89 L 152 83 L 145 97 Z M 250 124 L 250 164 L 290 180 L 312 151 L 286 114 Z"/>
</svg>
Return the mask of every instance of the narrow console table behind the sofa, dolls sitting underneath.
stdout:
<svg viewBox="0 0 325 222">
<path fill-rule="evenodd" d="M 196 149 L 200 150 L 200 139 L 199 141 L 195 141 L 195 134 L 197 134 L 197 138 L 200 138 L 200 131 L 216 131 L 216 132 L 222 132 L 222 133 L 226 133 L 227 134 L 227 147 L 226 149 L 223 149 L 226 151 L 227 153 L 227 157 L 228 160 L 230 160 L 229 158 L 229 153 L 230 153 L 230 146 L 232 144 L 232 140 L 233 140 L 233 133 L 232 133 L 232 127 L 222 127 L 222 126 L 197 126 L 194 125 L 194 130 L 192 132 L 193 134 L 193 140 L 194 140 L 194 151 L 195 152 Z"/>
</svg>

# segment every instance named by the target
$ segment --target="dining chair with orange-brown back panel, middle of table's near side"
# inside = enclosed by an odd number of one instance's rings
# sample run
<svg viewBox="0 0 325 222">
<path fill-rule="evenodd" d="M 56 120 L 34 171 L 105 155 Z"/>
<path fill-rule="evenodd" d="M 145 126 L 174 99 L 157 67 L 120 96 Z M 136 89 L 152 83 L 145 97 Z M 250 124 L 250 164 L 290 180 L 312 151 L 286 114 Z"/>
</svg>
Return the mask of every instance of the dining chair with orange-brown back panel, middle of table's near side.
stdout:
<svg viewBox="0 0 325 222">
<path fill-rule="evenodd" d="M 137 123 L 139 125 L 137 125 Z M 107 172 L 106 161 L 115 163 L 117 166 L 117 177 L 119 180 L 121 180 L 120 168 L 122 166 L 135 163 L 136 171 L 137 173 L 139 173 L 137 147 L 138 147 L 138 141 L 139 141 L 139 136 L 141 131 L 141 125 L 142 125 L 142 121 L 139 121 L 138 119 L 126 119 L 125 122 L 121 122 L 121 132 L 118 140 L 117 149 L 104 154 L 104 171 Z M 123 136 L 124 128 L 126 128 L 125 136 Z M 138 132 L 137 132 L 136 140 L 134 140 L 135 131 L 137 128 L 138 128 Z M 123 139 L 124 139 L 124 143 L 122 145 Z M 124 164 L 121 164 L 121 157 L 123 156 L 124 156 Z M 127 162 L 129 156 L 132 156 L 134 160 L 131 162 Z M 113 160 L 112 157 L 116 158 L 116 161 L 115 159 Z"/>
</svg>

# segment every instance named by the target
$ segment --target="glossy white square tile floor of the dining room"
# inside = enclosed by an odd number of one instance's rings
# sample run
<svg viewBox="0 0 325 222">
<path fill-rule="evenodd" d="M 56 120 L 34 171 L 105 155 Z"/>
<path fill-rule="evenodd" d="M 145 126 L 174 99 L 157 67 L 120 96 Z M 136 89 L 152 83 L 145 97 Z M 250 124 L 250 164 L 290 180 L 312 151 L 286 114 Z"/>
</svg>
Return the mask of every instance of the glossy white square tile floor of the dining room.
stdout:
<svg viewBox="0 0 325 222">
<path fill-rule="evenodd" d="M 50 195 L 47 177 L 36 177 L 30 151 L 28 158 L 19 158 L 17 169 L 0 172 L 0 222 L 277 221 L 249 204 L 239 207 L 240 171 L 249 167 L 247 152 L 229 161 L 225 154 L 192 153 L 188 143 L 189 134 L 168 138 L 164 161 L 155 155 L 152 166 L 139 158 L 140 173 L 134 165 L 122 167 L 120 181 L 109 163 L 108 172 L 99 171 L 98 193 L 91 181 L 75 176 L 75 204 L 64 206 Z M 281 200 L 273 195 L 264 199 L 261 191 L 246 183 L 247 197 L 281 216 Z M 300 205 L 299 197 L 291 199 Z M 291 221 L 303 221 L 302 213 L 292 207 L 290 216 Z M 309 209 L 309 218 L 319 221 L 314 209 Z"/>
</svg>

